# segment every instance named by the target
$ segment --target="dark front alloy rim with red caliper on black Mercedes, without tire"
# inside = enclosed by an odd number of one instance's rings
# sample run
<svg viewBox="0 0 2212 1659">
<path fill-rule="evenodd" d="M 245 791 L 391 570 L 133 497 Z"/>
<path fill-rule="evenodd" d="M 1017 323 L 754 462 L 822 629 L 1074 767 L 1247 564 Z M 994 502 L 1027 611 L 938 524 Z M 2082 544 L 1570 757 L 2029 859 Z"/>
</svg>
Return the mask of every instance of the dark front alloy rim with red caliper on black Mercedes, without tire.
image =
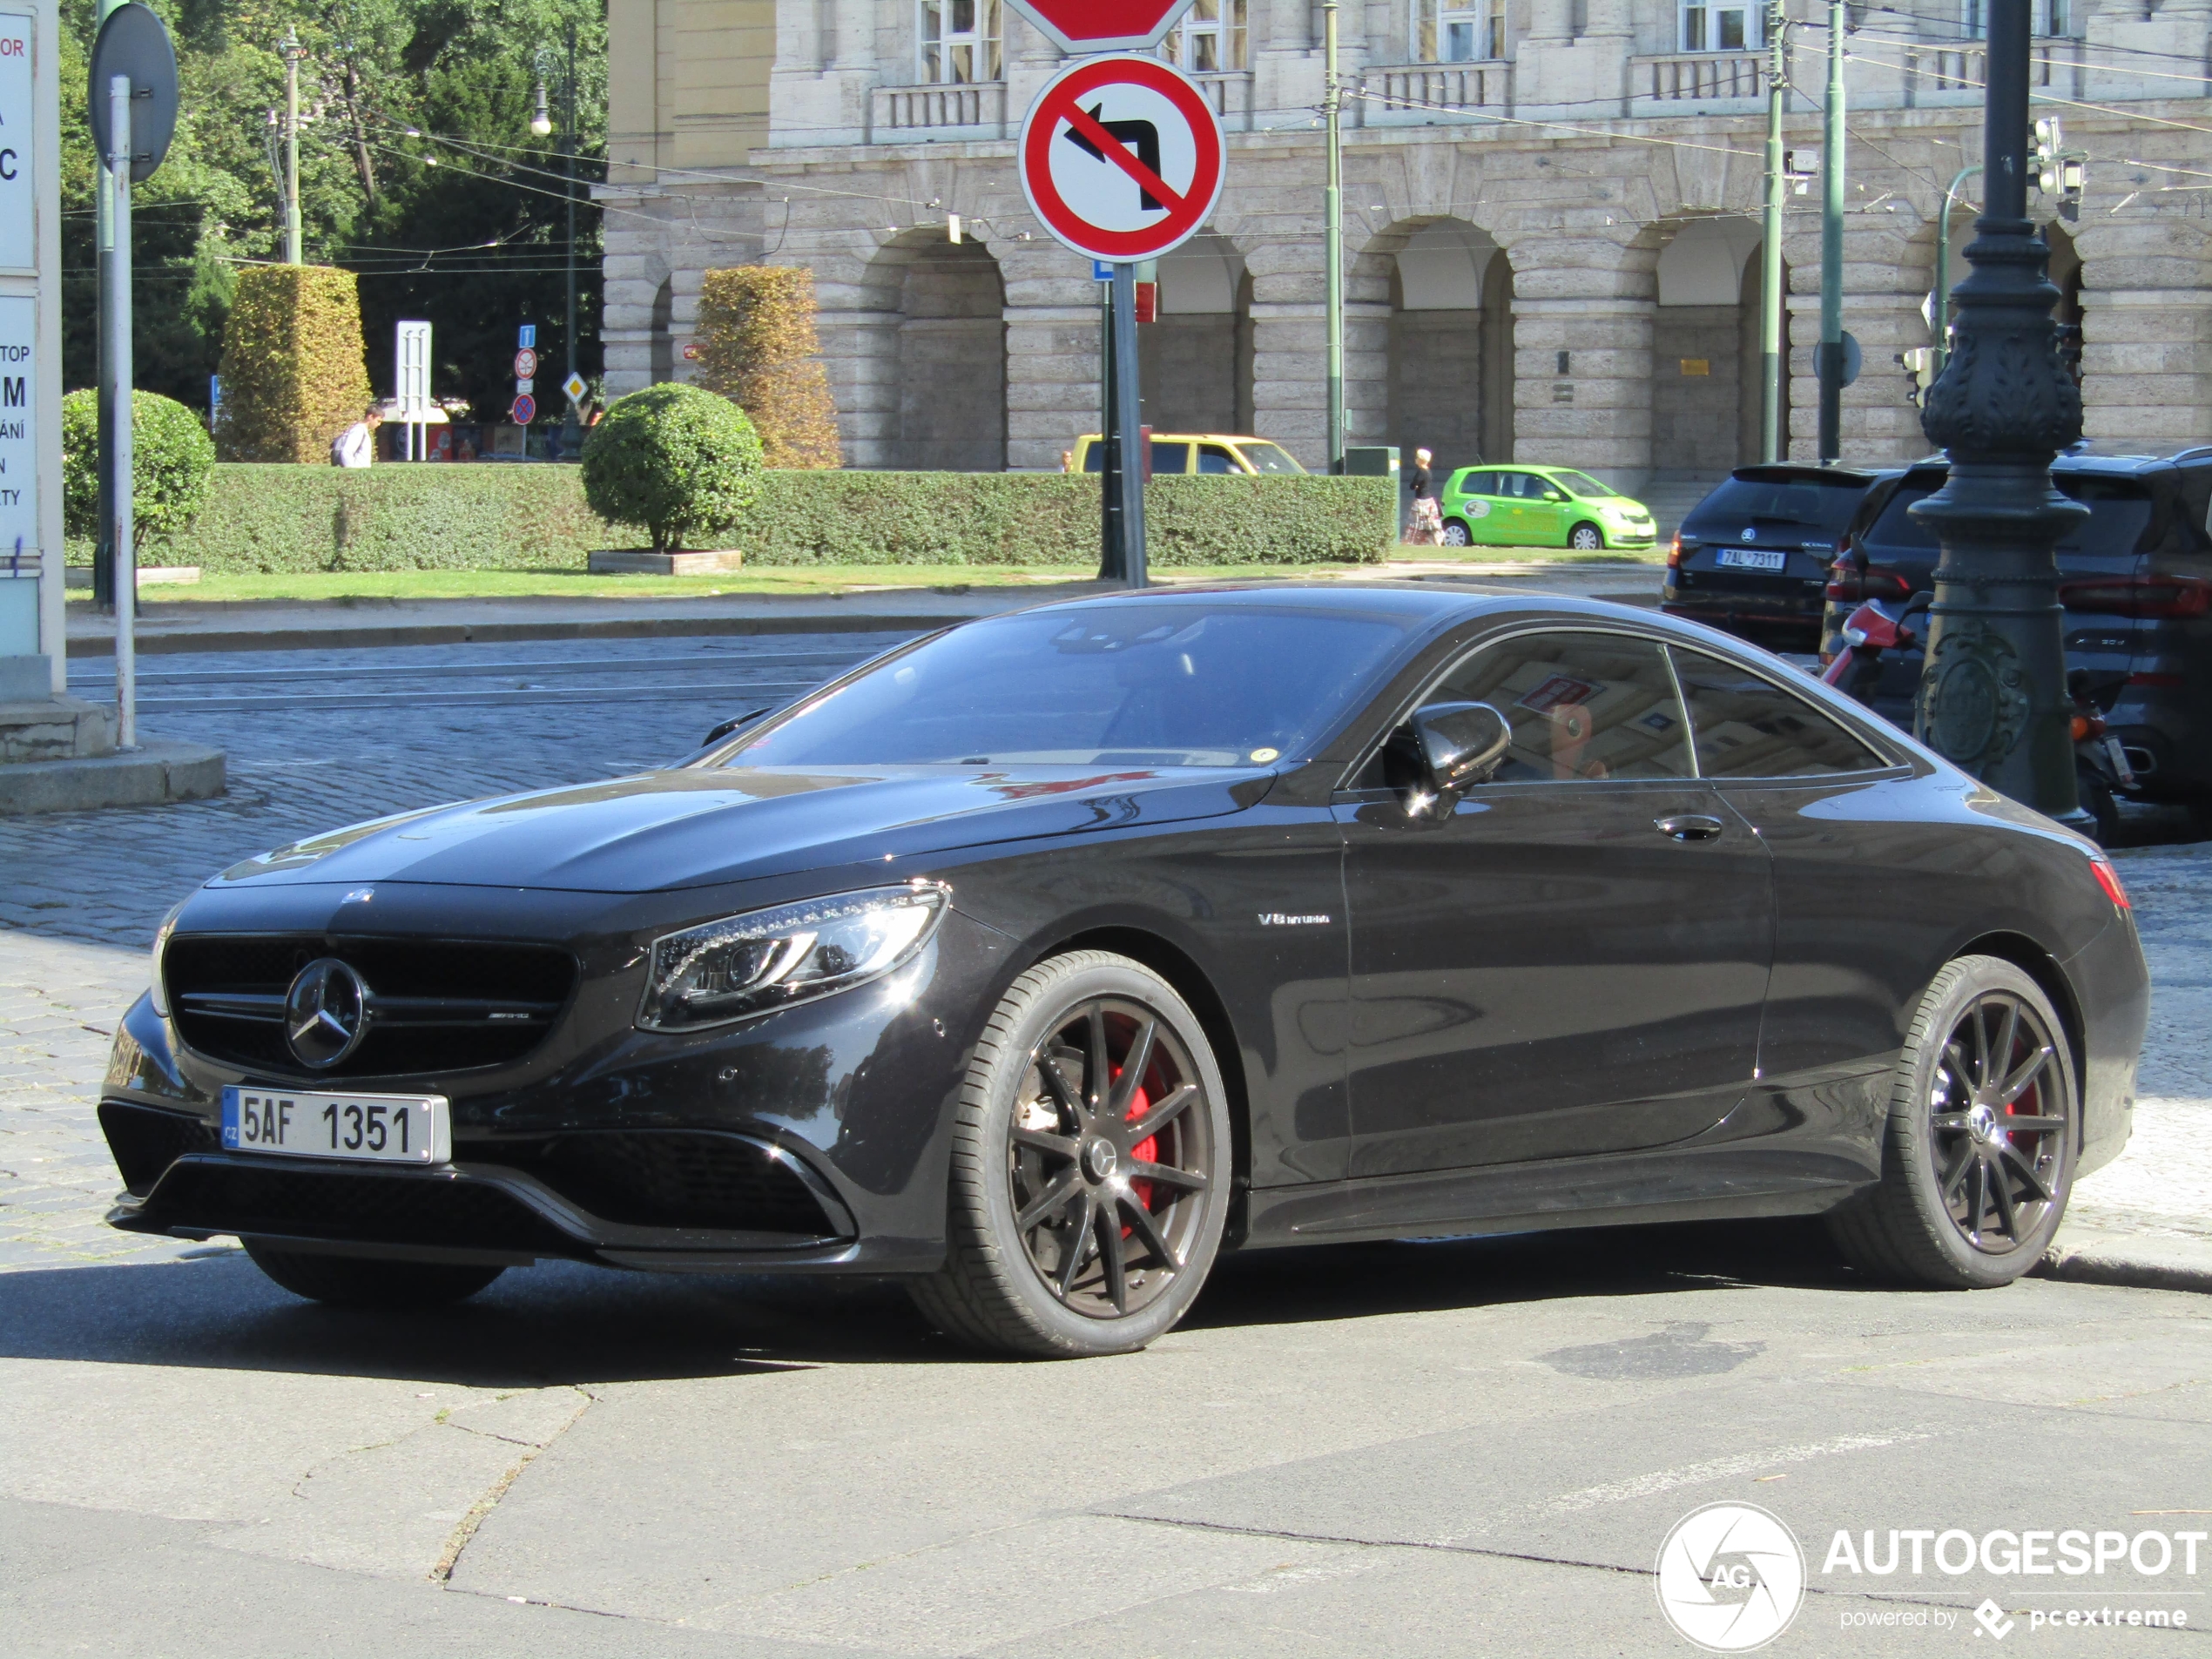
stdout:
<svg viewBox="0 0 2212 1659">
<path fill-rule="evenodd" d="M 1031 1051 L 1013 1104 L 1006 1177 L 1029 1265 L 1071 1312 L 1146 1307 L 1190 1259 L 1214 1157 L 1172 1026 L 1124 998 L 1075 1004 Z"/>
</svg>

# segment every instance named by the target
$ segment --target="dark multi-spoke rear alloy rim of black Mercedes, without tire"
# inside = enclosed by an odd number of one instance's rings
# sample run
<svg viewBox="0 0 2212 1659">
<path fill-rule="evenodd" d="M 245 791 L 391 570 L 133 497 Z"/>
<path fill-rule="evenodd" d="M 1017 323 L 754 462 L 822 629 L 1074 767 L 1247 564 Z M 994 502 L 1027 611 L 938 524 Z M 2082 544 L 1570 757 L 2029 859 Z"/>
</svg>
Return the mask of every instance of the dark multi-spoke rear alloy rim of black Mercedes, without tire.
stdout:
<svg viewBox="0 0 2212 1659">
<path fill-rule="evenodd" d="M 2066 1183 L 2066 1091 L 2044 1018 L 1984 991 L 1951 1026 L 1929 1091 L 1929 1146 L 1951 1225 L 1975 1250 L 2017 1250 Z"/>
</svg>

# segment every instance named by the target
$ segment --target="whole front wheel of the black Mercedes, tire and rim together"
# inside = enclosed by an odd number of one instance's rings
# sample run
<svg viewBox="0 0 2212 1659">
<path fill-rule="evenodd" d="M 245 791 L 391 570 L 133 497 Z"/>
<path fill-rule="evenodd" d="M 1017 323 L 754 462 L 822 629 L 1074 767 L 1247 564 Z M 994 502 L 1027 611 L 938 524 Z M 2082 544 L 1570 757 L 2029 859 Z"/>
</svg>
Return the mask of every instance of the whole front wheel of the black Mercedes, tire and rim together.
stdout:
<svg viewBox="0 0 2212 1659">
<path fill-rule="evenodd" d="M 1126 956 L 1033 967 L 975 1044 L 949 1186 L 945 1267 L 909 1294 L 953 1340 L 1084 1358 L 1172 1329 L 1230 1203 L 1228 1097 L 1197 1015 Z"/>
</svg>

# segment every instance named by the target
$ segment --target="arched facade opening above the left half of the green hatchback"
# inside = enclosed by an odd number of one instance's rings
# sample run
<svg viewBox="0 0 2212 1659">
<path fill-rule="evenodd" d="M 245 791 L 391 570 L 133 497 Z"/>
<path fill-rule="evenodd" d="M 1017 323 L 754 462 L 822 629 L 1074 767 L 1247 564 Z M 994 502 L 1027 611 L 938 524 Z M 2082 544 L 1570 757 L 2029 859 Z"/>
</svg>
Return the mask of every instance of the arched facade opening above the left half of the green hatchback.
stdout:
<svg viewBox="0 0 2212 1659">
<path fill-rule="evenodd" d="M 1405 221 L 1367 246 L 1352 290 L 1383 323 L 1383 338 L 1371 341 L 1383 358 L 1380 409 L 1347 409 L 1352 431 L 1380 429 L 1405 467 L 1416 449 L 1436 451 L 1438 478 L 1511 460 L 1513 261 L 1491 234 L 1464 219 Z M 1349 363 L 1345 378 L 1349 405 Z"/>
</svg>

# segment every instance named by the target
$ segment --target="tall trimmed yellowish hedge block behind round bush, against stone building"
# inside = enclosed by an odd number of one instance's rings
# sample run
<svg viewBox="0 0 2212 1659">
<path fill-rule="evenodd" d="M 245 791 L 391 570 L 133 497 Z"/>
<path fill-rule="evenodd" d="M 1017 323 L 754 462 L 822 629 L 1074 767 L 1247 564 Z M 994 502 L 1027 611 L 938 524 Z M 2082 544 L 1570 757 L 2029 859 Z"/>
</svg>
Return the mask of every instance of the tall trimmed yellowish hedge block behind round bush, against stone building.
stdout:
<svg viewBox="0 0 2212 1659">
<path fill-rule="evenodd" d="M 814 272 L 737 265 L 699 279 L 699 385 L 752 418 L 770 467 L 841 467 L 836 405 L 816 361 Z"/>
</svg>

